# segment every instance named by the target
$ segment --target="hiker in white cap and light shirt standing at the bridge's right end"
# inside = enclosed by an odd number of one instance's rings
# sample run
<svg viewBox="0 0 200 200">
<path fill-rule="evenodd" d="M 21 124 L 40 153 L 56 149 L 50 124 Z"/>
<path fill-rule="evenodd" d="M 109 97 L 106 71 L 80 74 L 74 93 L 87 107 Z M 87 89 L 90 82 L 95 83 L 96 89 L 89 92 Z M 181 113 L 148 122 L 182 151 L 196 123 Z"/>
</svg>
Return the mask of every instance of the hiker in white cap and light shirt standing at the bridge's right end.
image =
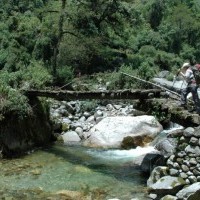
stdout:
<svg viewBox="0 0 200 200">
<path fill-rule="evenodd" d="M 198 114 L 200 114 L 200 100 L 197 93 L 198 85 L 196 84 L 196 80 L 190 63 L 184 63 L 181 69 L 178 71 L 177 75 L 179 74 L 183 76 L 184 80 L 187 83 L 186 88 L 181 91 L 180 106 L 186 108 L 187 95 L 191 92 L 195 106 L 195 109 L 192 111 L 196 111 Z"/>
</svg>

